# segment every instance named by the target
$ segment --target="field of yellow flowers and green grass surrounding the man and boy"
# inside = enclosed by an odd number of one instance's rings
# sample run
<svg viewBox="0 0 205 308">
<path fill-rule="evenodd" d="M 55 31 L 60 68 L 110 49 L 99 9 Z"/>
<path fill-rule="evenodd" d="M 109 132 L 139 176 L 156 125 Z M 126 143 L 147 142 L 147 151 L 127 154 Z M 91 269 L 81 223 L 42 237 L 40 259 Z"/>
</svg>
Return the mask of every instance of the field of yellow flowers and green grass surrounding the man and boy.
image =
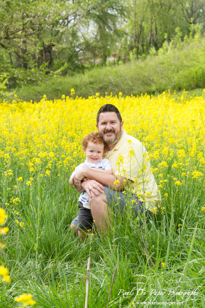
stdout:
<svg viewBox="0 0 205 308">
<path fill-rule="evenodd" d="M 104 241 L 89 236 L 81 243 L 69 230 L 78 199 L 69 177 L 85 159 L 81 140 L 96 131 L 105 103 L 120 110 L 126 132 L 147 149 L 161 209 L 152 224 L 116 218 Z M 54 101 L 44 95 L 38 103 L 0 103 L 1 307 L 17 307 L 22 298 L 24 306 L 84 307 L 88 257 L 88 307 L 107 306 L 117 261 L 110 307 L 151 307 L 153 300 L 205 307 L 204 136 L 205 90 L 84 99 L 72 89 Z"/>
</svg>

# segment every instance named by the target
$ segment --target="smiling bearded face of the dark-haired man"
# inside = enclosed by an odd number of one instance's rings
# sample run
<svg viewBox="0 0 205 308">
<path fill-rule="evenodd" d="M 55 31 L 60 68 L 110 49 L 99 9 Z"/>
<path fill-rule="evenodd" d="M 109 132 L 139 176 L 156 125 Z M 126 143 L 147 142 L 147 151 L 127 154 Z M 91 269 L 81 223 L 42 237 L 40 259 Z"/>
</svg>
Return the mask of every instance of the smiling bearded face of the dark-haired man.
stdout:
<svg viewBox="0 0 205 308">
<path fill-rule="evenodd" d="M 122 134 L 123 121 L 120 123 L 115 112 L 102 112 L 96 126 L 107 144 L 116 144 Z"/>
</svg>

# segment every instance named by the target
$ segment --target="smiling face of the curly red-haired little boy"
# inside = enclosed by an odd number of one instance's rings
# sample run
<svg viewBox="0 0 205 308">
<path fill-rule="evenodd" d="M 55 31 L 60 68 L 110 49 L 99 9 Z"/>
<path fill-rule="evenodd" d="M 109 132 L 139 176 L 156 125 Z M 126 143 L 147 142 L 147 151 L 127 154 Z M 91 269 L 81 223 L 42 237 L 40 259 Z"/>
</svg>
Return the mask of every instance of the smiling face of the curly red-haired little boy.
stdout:
<svg viewBox="0 0 205 308">
<path fill-rule="evenodd" d="M 88 142 L 87 148 L 83 148 L 83 152 L 86 154 L 88 162 L 90 164 L 96 163 L 101 160 L 104 154 L 104 144 L 102 143 L 93 143 L 91 141 Z"/>
</svg>

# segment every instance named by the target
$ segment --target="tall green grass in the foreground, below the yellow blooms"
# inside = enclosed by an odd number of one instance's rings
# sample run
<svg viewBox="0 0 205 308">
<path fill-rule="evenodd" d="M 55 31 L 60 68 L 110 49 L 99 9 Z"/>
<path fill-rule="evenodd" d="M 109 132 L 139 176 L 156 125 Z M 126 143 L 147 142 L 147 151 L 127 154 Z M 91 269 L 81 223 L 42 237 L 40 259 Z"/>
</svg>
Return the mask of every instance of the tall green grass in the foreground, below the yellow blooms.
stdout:
<svg viewBox="0 0 205 308">
<path fill-rule="evenodd" d="M 184 302 L 179 307 L 205 307 L 205 232 L 200 209 L 203 191 L 195 189 L 188 197 L 186 192 L 179 197 L 182 192 L 178 191 L 175 199 L 164 198 L 165 210 L 153 216 L 148 225 L 133 221 L 130 215 L 123 221 L 120 216 L 112 217 L 108 237 L 90 235 L 81 242 L 68 226 L 77 213 L 77 193 L 66 181 L 63 183 L 58 177 L 52 185 L 39 182 L 35 189 L 28 188 L 20 196 L 22 202 L 15 206 L 21 216 L 7 206 L 10 231 L 4 236 L 8 243 L 1 252 L 0 264 L 8 267 L 11 282 L 0 285 L 0 307 L 17 307 L 14 298 L 30 293 L 36 307 L 83 308 L 89 257 L 88 307 L 107 306 L 117 261 L 109 307 L 176 300 Z M 15 219 L 22 221 L 24 228 Z M 170 293 L 178 285 L 183 291 L 198 288 L 199 294 L 191 300 L 189 295 L 182 298 Z M 133 295 L 123 297 L 120 292 L 133 288 Z M 154 296 L 153 290 L 164 294 Z M 146 306 L 165 307 L 136 304 Z"/>
</svg>

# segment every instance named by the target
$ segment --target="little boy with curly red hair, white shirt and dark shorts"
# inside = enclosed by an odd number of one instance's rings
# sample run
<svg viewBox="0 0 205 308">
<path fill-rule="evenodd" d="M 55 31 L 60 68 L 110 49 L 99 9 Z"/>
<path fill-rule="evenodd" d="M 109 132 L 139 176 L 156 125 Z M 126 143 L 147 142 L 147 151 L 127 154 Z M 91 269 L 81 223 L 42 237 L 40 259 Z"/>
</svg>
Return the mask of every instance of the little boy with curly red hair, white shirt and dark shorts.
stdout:
<svg viewBox="0 0 205 308">
<path fill-rule="evenodd" d="M 104 152 L 107 149 L 107 144 L 99 135 L 98 132 L 90 133 L 82 140 L 83 152 L 86 154 L 86 160 L 84 163 L 78 165 L 73 171 L 69 184 L 72 184 L 73 177 L 76 172 L 81 168 L 98 168 L 101 172 L 112 174 L 111 163 L 107 158 L 102 158 Z M 85 238 L 85 232 L 92 229 L 92 215 L 90 211 L 90 205 L 88 201 L 88 194 L 86 191 L 81 193 L 79 199 L 79 210 L 78 210 L 78 234 L 82 240 Z"/>
</svg>

